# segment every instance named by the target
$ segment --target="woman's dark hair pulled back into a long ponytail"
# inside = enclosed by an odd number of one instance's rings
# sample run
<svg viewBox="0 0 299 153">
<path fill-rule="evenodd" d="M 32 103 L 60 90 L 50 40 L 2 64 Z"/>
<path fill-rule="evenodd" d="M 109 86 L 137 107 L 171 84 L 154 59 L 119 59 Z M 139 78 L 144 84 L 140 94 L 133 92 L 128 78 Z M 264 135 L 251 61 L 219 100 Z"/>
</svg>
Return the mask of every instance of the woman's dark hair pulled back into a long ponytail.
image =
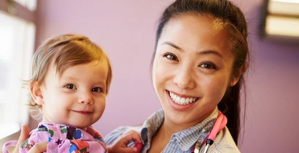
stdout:
<svg viewBox="0 0 299 153">
<path fill-rule="evenodd" d="M 218 109 L 227 117 L 227 127 L 236 144 L 240 132 L 240 104 L 239 95 L 243 82 L 243 72 L 246 69 L 248 58 L 247 23 L 242 11 L 226 0 L 177 0 L 164 11 L 156 31 L 155 50 L 165 24 L 173 18 L 185 14 L 205 15 L 217 19 L 223 28 L 230 34 L 234 64 L 232 77 L 240 77 L 239 82 L 228 87 L 224 97 L 218 104 Z M 155 52 L 152 57 L 152 63 Z"/>
</svg>

